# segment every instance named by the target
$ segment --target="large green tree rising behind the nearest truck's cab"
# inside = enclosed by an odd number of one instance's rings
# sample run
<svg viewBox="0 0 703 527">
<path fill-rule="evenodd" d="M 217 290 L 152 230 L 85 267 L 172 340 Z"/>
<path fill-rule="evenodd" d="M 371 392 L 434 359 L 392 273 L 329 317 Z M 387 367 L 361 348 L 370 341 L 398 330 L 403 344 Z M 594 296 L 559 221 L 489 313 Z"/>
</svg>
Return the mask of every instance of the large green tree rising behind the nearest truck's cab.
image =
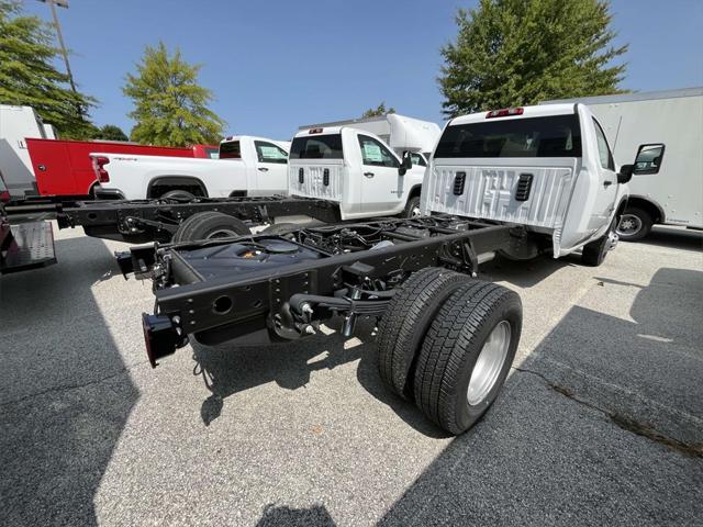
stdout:
<svg viewBox="0 0 703 527">
<path fill-rule="evenodd" d="M 442 48 L 444 113 L 456 116 L 542 100 L 622 93 L 607 0 L 481 0 L 458 11 Z"/>
</svg>

